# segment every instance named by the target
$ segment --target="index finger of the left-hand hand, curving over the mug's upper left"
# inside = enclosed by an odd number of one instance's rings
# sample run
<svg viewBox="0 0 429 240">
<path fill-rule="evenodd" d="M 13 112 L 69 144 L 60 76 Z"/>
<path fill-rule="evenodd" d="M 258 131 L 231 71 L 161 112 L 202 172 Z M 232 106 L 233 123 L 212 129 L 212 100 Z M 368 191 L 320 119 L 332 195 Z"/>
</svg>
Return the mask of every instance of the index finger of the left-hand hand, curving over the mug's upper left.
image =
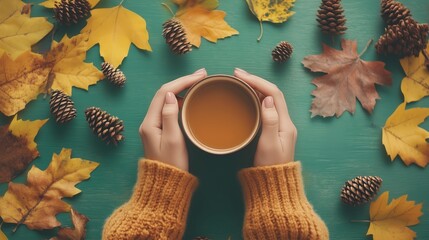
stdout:
<svg viewBox="0 0 429 240">
<path fill-rule="evenodd" d="M 164 105 L 166 93 L 172 92 L 173 94 L 178 94 L 206 76 L 207 72 L 203 68 L 191 75 L 164 84 L 153 97 L 142 124 L 149 124 L 153 127 L 161 128 L 161 110 Z"/>
</svg>

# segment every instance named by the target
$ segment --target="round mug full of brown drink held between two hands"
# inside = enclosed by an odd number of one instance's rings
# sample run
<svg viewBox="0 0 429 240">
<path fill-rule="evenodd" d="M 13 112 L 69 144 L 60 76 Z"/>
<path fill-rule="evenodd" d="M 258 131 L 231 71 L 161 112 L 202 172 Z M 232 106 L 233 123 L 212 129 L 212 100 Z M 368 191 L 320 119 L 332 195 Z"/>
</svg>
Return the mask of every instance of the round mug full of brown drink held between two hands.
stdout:
<svg viewBox="0 0 429 240">
<path fill-rule="evenodd" d="M 255 92 L 241 80 L 208 77 L 186 96 L 182 114 L 185 131 L 194 143 L 209 148 L 209 152 L 234 150 L 256 134 L 258 104 Z"/>
</svg>

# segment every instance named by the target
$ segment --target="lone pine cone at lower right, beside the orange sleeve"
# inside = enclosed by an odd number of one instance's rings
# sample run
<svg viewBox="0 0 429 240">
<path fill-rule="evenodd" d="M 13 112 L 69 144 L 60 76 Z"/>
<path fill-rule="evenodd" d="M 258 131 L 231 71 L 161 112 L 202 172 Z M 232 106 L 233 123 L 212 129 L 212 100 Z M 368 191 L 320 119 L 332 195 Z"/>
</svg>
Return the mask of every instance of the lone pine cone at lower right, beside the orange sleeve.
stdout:
<svg viewBox="0 0 429 240">
<path fill-rule="evenodd" d="M 345 183 L 341 190 L 341 200 L 353 206 L 366 203 L 374 198 L 382 182 L 380 177 L 355 177 Z"/>
</svg>

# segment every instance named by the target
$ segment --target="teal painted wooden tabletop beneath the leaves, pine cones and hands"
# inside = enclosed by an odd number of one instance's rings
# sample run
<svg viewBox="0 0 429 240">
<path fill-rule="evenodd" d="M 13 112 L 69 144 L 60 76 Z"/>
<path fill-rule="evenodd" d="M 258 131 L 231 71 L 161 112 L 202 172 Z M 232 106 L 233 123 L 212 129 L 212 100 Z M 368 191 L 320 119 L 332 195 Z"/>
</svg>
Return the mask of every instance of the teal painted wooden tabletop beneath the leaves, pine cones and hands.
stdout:
<svg viewBox="0 0 429 240">
<path fill-rule="evenodd" d="M 34 1 L 33 3 L 39 3 Z M 102 0 L 97 6 L 116 6 L 118 0 Z M 315 88 L 311 80 L 319 76 L 310 73 L 302 59 L 310 54 L 319 54 L 322 42 L 331 43 L 317 27 L 315 13 L 320 1 L 297 0 L 296 12 L 288 22 L 281 25 L 264 24 L 265 34 L 257 42 L 259 23 L 250 13 L 244 0 L 220 0 L 219 9 L 227 12 L 227 21 L 240 34 L 217 44 L 202 41 L 200 49 L 185 56 L 170 53 L 161 36 L 161 25 L 170 17 L 160 1 L 127 0 L 124 6 L 143 16 L 148 24 L 149 42 L 153 52 L 142 52 L 131 47 L 121 68 L 127 75 L 123 89 L 102 81 L 89 91 L 73 90 L 73 100 L 78 117 L 66 125 L 57 125 L 53 119 L 41 129 L 36 138 L 40 157 L 33 163 L 45 169 L 53 153 L 61 148 L 73 149 L 73 156 L 99 162 L 91 179 L 80 183 L 82 193 L 67 199 L 74 208 L 89 217 L 87 239 L 100 239 L 104 220 L 119 205 L 127 201 L 136 179 L 136 166 L 143 156 L 138 127 L 146 114 L 148 105 L 164 83 L 205 67 L 209 74 L 231 74 L 234 67 L 245 69 L 277 84 L 286 96 L 290 115 L 298 128 L 296 158 L 303 164 L 303 176 L 308 198 L 326 221 L 331 239 L 365 239 L 368 223 L 351 220 L 369 219 L 369 205 L 349 207 L 339 200 L 340 189 L 347 179 L 358 175 L 378 175 L 384 179 L 381 191 L 390 191 L 391 197 L 408 194 L 409 199 L 423 202 L 424 215 L 420 224 L 412 227 L 417 239 L 429 239 L 429 169 L 417 166 L 406 167 L 400 159 L 393 163 L 381 144 L 381 127 L 387 117 L 402 102 L 400 81 L 404 73 L 397 58 L 379 57 L 373 45 L 363 55 L 364 60 L 383 60 L 393 74 L 393 85 L 377 87 L 381 100 L 377 101 L 374 113 L 369 115 L 360 104 L 356 113 L 343 114 L 339 119 L 310 118 L 311 91 Z M 404 0 L 415 19 L 429 21 L 428 0 Z M 344 38 L 356 39 L 361 51 L 369 39 L 378 39 L 384 30 L 379 16 L 379 1 L 343 0 L 347 17 L 347 33 Z M 51 16 L 52 12 L 33 6 L 33 16 Z M 52 18 L 51 18 L 52 20 Z M 69 35 L 79 32 L 84 23 L 68 29 Z M 65 33 L 57 29 L 55 39 Z M 294 46 L 290 61 L 276 64 L 271 60 L 271 50 L 280 41 L 287 40 Z M 46 48 L 49 37 L 36 48 Z M 339 40 L 336 39 L 338 47 Z M 99 48 L 88 53 L 87 62 L 100 66 Z M 19 113 L 23 119 L 50 118 L 48 98 L 39 96 Z M 429 107 L 428 98 L 414 106 Z M 118 147 L 106 146 L 92 134 L 84 119 L 84 110 L 98 106 L 119 116 L 125 123 L 125 141 Z M 0 115 L 0 124 L 11 118 Z M 422 126 L 429 128 L 429 121 Z M 190 171 L 200 180 L 200 186 L 192 200 L 188 225 L 184 239 L 205 235 L 211 239 L 241 239 L 244 213 L 241 188 L 236 173 L 250 166 L 255 143 L 241 152 L 227 156 L 213 156 L 189 144 Z M 26 174 L 14 181 L 23 182 Z M 0 193 L 6 191 L 0 185 Z M 60 221 L 70 224 L 68 214 L 60 214 Z M 29 231 L 22 226 L 12 233 L 13 226 L 3 225 L 10 239 L 46 239 L 51 231 Z M 369 238 L 370 239 L 370 238 Z"/>
</svg>

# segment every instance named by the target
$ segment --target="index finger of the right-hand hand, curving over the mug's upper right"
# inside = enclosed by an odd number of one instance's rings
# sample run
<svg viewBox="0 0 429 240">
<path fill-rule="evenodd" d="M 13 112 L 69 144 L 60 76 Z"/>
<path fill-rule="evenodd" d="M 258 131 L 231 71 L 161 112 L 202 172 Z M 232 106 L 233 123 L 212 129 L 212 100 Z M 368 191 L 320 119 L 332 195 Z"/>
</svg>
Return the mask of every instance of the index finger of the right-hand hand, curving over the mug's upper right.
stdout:
<svg viewBox="0 0 429 240">
<path fill-rule="evenodd" d="M 274 104 L 280 118 L 280 131 L 287 131 L 287 129 L 291 127 L 292 120 L 289 116 L 286 100 L 283 96 L 283 93 L 275 84 L 238 68 L 234 70 L 234 75 L 245 81 L 257 91 L 261 92 L 263 95 L 273 97 Z"/>
</svg>

